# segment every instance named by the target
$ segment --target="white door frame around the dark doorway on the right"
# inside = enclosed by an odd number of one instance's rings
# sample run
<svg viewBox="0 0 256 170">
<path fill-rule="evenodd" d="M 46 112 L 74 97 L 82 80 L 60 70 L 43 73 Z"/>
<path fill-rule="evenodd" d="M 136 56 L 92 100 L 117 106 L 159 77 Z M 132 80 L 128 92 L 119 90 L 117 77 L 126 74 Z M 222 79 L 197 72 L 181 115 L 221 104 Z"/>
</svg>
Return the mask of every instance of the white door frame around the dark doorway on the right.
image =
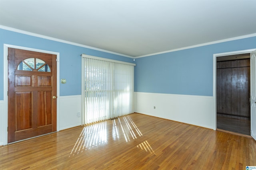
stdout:
<svg viewBox="0 0 256 170">
<path fill-rule="evenodd" d="M 213 113 L 215 114 L 215 130 L 217 129 L 217 105 L 216 105 L 216 58 L 228 55 L 252 53 L 256 49 L 248 49 L 241 51 L 230 51 L 226 53 L 213 54 Z M 251 114 L 251 113 L 250 113 Z"/>
</svg>

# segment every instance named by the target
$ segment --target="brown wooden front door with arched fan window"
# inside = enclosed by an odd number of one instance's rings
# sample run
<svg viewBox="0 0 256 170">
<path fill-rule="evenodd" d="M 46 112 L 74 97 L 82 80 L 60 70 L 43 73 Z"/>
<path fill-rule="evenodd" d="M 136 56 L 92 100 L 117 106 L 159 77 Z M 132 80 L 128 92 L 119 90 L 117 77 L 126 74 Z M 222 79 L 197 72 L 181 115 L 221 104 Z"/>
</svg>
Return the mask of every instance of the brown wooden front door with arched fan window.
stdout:
<svg viewBox="0 0 256 170">
<path fill-rule="evenodd" d="M 56 131 L 56 57 L 8 48 L 8 143 Z"/>
</svg>

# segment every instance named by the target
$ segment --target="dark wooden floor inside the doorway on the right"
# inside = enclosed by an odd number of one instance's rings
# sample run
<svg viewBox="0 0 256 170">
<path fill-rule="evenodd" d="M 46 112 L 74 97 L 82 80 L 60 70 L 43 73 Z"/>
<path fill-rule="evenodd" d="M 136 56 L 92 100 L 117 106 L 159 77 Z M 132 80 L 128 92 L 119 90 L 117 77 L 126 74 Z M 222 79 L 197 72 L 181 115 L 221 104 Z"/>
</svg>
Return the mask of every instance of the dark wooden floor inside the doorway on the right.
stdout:
<svg viewBox="0 0 256 170">
<path fill-rule="evenodd" d="M 217 116 L 217 128 L 243 135 L 251 135 L 251 122 L 249 120 Z"/>
</svg>

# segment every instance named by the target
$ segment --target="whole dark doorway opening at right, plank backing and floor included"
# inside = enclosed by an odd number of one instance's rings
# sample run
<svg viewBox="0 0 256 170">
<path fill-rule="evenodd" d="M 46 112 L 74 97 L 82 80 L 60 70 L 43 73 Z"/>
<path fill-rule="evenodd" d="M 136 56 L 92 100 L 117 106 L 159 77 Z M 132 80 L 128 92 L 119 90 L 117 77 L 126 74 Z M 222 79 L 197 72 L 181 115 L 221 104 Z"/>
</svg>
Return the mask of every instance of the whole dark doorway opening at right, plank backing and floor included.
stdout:
<svg viewBox="0 0 256 170">
<path fill-rule="evenodd" d="M 250 53 L 216 59 L 217 129 L 250 135 Z"/>
</svg>

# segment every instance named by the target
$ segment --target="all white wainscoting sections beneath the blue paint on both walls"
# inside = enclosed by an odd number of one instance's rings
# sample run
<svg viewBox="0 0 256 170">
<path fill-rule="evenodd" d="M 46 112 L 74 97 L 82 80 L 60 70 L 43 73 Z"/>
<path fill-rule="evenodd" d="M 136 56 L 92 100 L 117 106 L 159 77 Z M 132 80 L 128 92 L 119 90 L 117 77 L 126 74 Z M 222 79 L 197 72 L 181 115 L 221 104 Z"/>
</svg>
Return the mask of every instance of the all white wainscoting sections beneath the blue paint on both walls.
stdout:
<svg viewBox="0 0 256 170">
<path fill-rule="evenodd" d="M 60 130 L 81 125 L 81 95 L 60 96 Z M 154 109 L 154 106 L 156 109 Z M 216 129 L 213 97 L 134 92 L 134 112 Z M 4 102 L 0 100 L 0 146 L 3 145 Z"/>
</svg>

